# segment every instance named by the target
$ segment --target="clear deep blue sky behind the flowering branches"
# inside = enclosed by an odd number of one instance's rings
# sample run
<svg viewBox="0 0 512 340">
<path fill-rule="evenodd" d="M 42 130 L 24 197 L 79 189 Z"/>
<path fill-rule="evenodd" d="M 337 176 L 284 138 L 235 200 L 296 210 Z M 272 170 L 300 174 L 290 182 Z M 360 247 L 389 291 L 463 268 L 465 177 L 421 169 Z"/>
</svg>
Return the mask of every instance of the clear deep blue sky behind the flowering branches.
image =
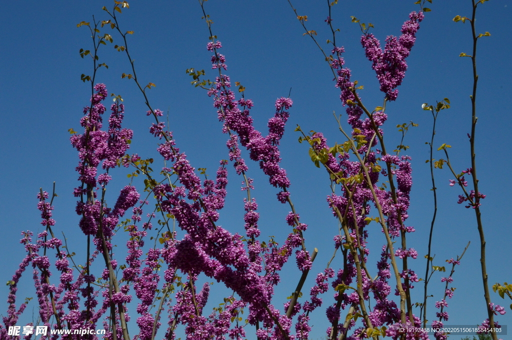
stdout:
<svg viewBox="0 0 512 340">
<path fill-rule="evenodd" d="M 303 292 L 309 293 L 315 274 L 322 271 L 333 252 L 333 236 L 338 233 L 337 220 L 327 206 L 326 196 L 330 193 L 329 178 L 325 170 L 314 167 L 308 156 L 308 147 L 299 144 L 296 124 L 303 130 L 323 132 L 328 144 L 345 141 L 337 129 L 332 112 L 344 114 L 340 104 L 339 90 L 334 87 L 332 73 L 322 54 L 312 40 L 303 36 L 303 28 L 285 0 L 234 1 L 211 0 L 206 11 L 214 21 L 212 29 L 226 56 L 231 81 L 239 81 L 246 87 L 245 96 L 254 101 L 251 115 L 255 127 L 266 134 L 266 124 L 274 114 L 276 98 L 286 97 L 291 87 L 294 101 L 290 119 L 282 140 L 282 167 L 291 180 L 290 191 L 301 222 L 309 225 L 305 234 L 309 250 L 317 247 L 318 256 L 308 277 Z M 329 50 L 326 39 L 330 31 L 324 22 L 327 5 L 324 1 L 295 0 L 293 5 L 299 15 L 307 15 L 307 26 L 318 33 L 322 48 Z M 92 62 L 82 59 L 78 51 L 92 48 L 89 30 L 77 28 L 82 20 L 107 19 L 102 6 L 112 9 L 108 1 L 87 2 L 1 2 L 0 3 L 0 283 L 11 279 L 24 257 L 24 248 L 18 243 L 20 233 L 31 230 L 41 232 L 39 211 L 36 209 L 36 194 L 42 187 L 51 191 L 56 182 L 54 231 L 65 233 L 70 251 L 84 254 L 83 242 L 75 214 L 76 199 L 73 188 L 78 185 L 74 168 L 78 164 L 76 150 L 69 142 L 68 129 L 80 132 L 79 119 L 82 108 L 89 103 L 90 84 L 80 81 L 81 74 L 91 74 Z M 469 143 L 466 136 L 471 130 L 472 88 L 470 58 L 459 54 L 471 54 L 471 27 L 469 23 L 455 23 L 455 15 L 471 16 L 470 1 L 434 1 L 428 7 L 417 41 L 407 59 L 409 69 L 396 102 L 387 106 L 388 122 L 385 136 L 388 148 L 399 144 L 401 134 L 395 126 L 413 121 L 418 127 L 409 130 L 404 144 L 409 145 L 407 154 L 412 156 L 413 189 L 408 225 L 416 232 L 408 235 L 408 246 L 416 248 L 418 259 L 410 261 L 411 268 L 424 276 L 425 259 L 430 221 L 433 213 L 433 198 L 429 165 L 432 133 L 432 116 L 421 110 L 424 102 L 435 104 L 445 97 L 451 101 L 449 110 L 441 111 L 437 122 L 434 145 L 442 143 L 452 146 L 450 157 L 456 171 L 471 166 Z M 364 85 L 360 96 L 368 107 L 379 106 L 383 95 L 371 62 L 365 58 L 359 39 L 360 31 L 351 23 L 350 16 L 361 22 L 372 22 L 372 33 L 383 42 L 388 35 L 399 35 L 403 21 L 419 6 L 413 1 L 340 1 L 333 8 L 333 26 L 339 28 L 338 44 L 345 47 L 346 67 L 352 70 L 352 79 Z M 487 270 L 489 288 L 496 282 L 512 281 L 510 239 L 510 156 L 508 143 L 511 137 L 510 95 L 512 93 L 512 2 L 493 0 L 479 6 L 477 12 L 477 33 L 490 32 L 490 37 L 479 39 L 477 96 L 477 164 L 481 192 L 487 197 L 482 201 L 482 220 L 487 241 Z M 210 52 L 206 50 L 208 30 L 201 20 L 202 12 L 196 1 L 132 1 L 130 9 L 119 15 L 121 29 L 133 30 L 129 37 L 129 48 L 135 59 L 136 70 L 141 83 L 153 82 L 157 86 L 148 92 L 154 108 L 168 111 L 170 129 L 178 146 L 185 151 L 188 160 L 196 168 L 207 168 L 210 176 L 215 175 L 218 162 L 227 158 L 226 135 L 221 133 L 222 125 L 212 107 L 212 99 L 200 88 L 190 85 L 185 70 L 195 67 L 204 69 L 206 78 L 214 78 L 210 70 Z M 112 33 L 110 28 L 102 32 Z M 120 38 L 113 34 L 114 44 Z M 121 95 L 125 104 L 124 127 L 134 130 L 131 153 L 142 157 L 154 157 L 153 167 L 163 166 L 156 152 L 157 141 L 148 133 L 151 120 L 146 117 L 147 108 L 133 81 L 121 79 L 122 73 L 130 73 L 125 54 L 116 52 L 113 44 L 102 46 L 99 62 L 105 62 L 109 69 L 101 69 L 97 82 L 106 84 L 109 93 Z M 110 99 L 105 105 L 109 104 Z M 346 116 L 343 118 L 348 127 Z M 246 160 L 249 177 L 254 178 L 253 195 L 259 203 L 261 240 L 273 235 L 282 242 L 290 232 L 285 216 L 289 207 L 276 199 L 278 192 L 268 184 L 258 164 Z M 435 152 L 434 158 L 443 157 Z M 127 185 L 126 170 L 116 169 L 114 180 L 109 185 L 107 199 L 114 204 L 119 190 Z M 471 245 L 454 274 L 453 286 L 457 288 L 449 300 L 447 312 L 450 321 L 446 325 L 476 325 L 486 318 L 480 275 L 480 246 L 475 214 L 472 209 L 458 205 L 460 189 L 449 186 L 453 175 L 448 169 L 436 170 L 438 188 L 438 215 L 434 230 L 433 254 L 436 265 L 445 265 L 446 259 L 460 255 L 468 241 Z M 240 191 L 242 178 L 229 167 L 228 197 L 221 211 L 219 224 L 231 232 L 243 233 L 243 197 Z M 508 211 L 508 213 L 507 213 Z M 374 214 L 374 212 L 371 212 Z M 385 238 L 375 224 L 370 224 L 369 263 L 375 275 L 374 263 L 378 261 L 379 249 Z M 120 235 L 119 248 L 125 236 Z M 84 258 L 84 255 L 80 258 Z M 122 250 L 119 250 L 119 259 Z M 83 262 L 83 260 L 80 260 Z M 335 270 L 340 259 L 333 261 Z M 300 273 L 294 260 L 284 268 L 282 283 L 276 289 L 273 303 L 282 308 L 291 294 Z M 434 320 L 435 301 L 442 298 L 444 284 L 441 274 L 434 274 L 430 293 L 429 319 Z M 203 280 L 204 278 L 202 278 Z M 3 281 L 2 281 L 3 280 Z M 33 294 L 30 271 L 18 285 L 18 301 Z M 202 283 L 198 283 L 202 285 Z M 413 301 L 422 301 L 423 284 L 414 289 Z M 0 313 L 7 310 L 8 287 L 0 285 Z M 229 294 L 214 285 L 207 308 L 222 302 Z M 507 314 L 497 317 L 502 325 L 512 325 L 510 301 L 503 301 L 491 291 L 494 303 L 506 307 Z M 332 291 L 324 294 L 324 305 L 312 316 L 311 339 L 325 336 L 327 321 L 324 314 L 329 306 Z M 25 320 L 31 321 L 34 301 L 30 302 Z M 134 312 L 135 313 L 135 312 Z M 205 309 L 205 313 L 206 309 Z M 417 311 L 419 313 L 419 311 Z M 35 311 L 35 314 L 37 312 Z M 344 315 L 344 314 L 342 314 Z M 344 316 L 342 316 L 344 317 Z M 248 334 L 252 330 L 247 330 Z M 132 331 L 132 334 L 135 334 Z M 459 338 L 460 336 L 453 336 Z M 503 339 L 512 338 L 511 335 Z"/>
</svg>

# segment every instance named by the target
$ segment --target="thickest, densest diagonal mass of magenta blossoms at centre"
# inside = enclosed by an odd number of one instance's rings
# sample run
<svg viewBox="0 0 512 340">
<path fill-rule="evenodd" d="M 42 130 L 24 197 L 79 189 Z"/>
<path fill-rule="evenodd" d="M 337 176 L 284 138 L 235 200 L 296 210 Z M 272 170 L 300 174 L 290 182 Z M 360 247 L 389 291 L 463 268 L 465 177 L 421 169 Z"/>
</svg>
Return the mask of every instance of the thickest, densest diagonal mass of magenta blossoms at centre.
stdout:
<svg viewBox="0 0 512 340">
<path fill-rule="evenodd" d="M 172 169 L 180 185 L 160 184 L 155 186 L 153 192 L 161 210 L 175 216 L 178 225 L 186 233 L 181 240 L 173 237 L 166 241 L 166 248 L 162 251 L 161 256 L 168 265 L 165 275 L 167 284 L 174 282 L 174 273 L 177 269 L 188 275 L 190 284 L 197 280 L 197 275 L 204 273 L 219 282 L 222 281 L 228 288 L 237 292 L 244 305 L 249 304 L 249 322 L 254 324 L 259 321 L 266 327 L 272 327 L 274 315 L 269 315 L 266 307 L 271 307 L 272 286 L 279 282 L 279 276 L 277 280 L 275 278 L 275 271 L 281 269 L 283 256 L 273 257 L 272 250 L 266 259 L 267 275 L 260 275 L 263 270 L 260 243 L 253 241 L 247 253 L 240 235 L 230 234 L 216 224 L 219 218 L 218 210 L 223 208 L 226 195 L 226 161 L 221 161 L 215 182 L 205 179 L 201 183 L 195 169 L 188 163 L 186 155 L 180 153 L 176 147 L 172 134 L 169 131 L 163 133 L 167 141 L 160 145 L 158 151 L 166 160 L 173 162 Z M 254 200 L 246 200 L 245 208 L 247 234 L 250 237 L 257 237 L 257 205 Z M 300 244 L 300 238 L 298 243 L 296 238 L 292 240 L 285 242 L 287 256 Z M 282 250 L 275 253 L 282 254 Z M 272 267 L 274 269 L 270 269 Z M 213 327 L 212 323 L 215 324 L 216 321 L 203 317 L 197 319 L 197 310 L 183 309 L 184 305 L 194 305 L 192 300 L 195 298 L 187 292 L 181 292 L 177 299 L 180 302 L 177 301 L 178 305 L 173 307 L 176 318 L 169 325 L 167 332 L 174 334 L 172 325 L 182 323 L 187 325 L 186 332 L 190 336 L 209 334 Z M 230 330 L 229 333 L 237 333 L 236 329 Z"/>
</svg>

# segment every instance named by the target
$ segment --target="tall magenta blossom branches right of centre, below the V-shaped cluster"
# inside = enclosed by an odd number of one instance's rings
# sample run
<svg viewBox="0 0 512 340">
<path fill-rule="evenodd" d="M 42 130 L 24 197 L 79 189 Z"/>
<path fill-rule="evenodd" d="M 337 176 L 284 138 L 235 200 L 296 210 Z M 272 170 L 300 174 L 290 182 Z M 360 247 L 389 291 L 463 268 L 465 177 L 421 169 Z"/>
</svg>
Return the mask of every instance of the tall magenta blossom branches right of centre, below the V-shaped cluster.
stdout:
<svg viewBox="0 0 512 340">
<path fill-rule="evenodd" d="M 361 156 L 365 156 L 365 165 L 369 169 L 372 169 L 378 161 L 377 155 L 380 151 L 370 151 L 369 148 L 377 143 L 375 130 L 377 129 L 378 133 L 382 135 L 380 126 L 382 126 L 386 121 L 387 116 L 386 114 L 383 114 L 383 112 L 377 111 L 364 120 L 360 119 L 362 109 L 357 104 L 357 101 L 360 101 L 360 98 L 356 97 L 357 94 L 354 90 L 355 83 L 350 80 L 350 70 L 343 67 L 345 61 L 340 56 L 343 52 L 343 48 L 333 49 L 332 53 L 336 54 L 337 58 L 331 62 L 331 66 L 337 70 L 336 72 L 338 77 L 336 79 L 336 86 L 341 90 L 340 99 L 342 99 L 343 104 L 347 106 L 348 122 L 353 128 L 352 135 L 354 137 L 362 135 L 367 141 L 366 144 L 362 144 L 359 147 L 358 151 Z M 352 176 L 357 176 L 362 172 L 360 163 L 358 161 L 350 161 L 348 153 L 339 154 L 337 159 L 333 154 L 329 153 L 329 146 L 327 145 L 327 141 L 322 133 L 314 133 L 311 138 L 313 141 L 313 150 L 317 153 L 325 153 L 328 155 L 324 165 L 329 174 L 336 174 L 342 178 L 350 178 Z M 397 180 L 395 201 L 391 191 L 381 190 L 377 187 L 379 172 L 371 171 L 369 173 L 373 190 L 377 195 L 378 203 L 383 214 L 387 218 L 386 224 L 388 225 L 389 233 L 392 237 L 397 237 L 401 233 L 414 232 L 414 228 L 412 226 L 403 225 L 404 220 L 408 218 L 407 210 L 409 209 L 409 195 L 412 187 L 411 158 L 408 156 L 399 157 L 396 155 L 384 154 L 380 157 L 380 160 L 385 162 L 386 167 L 390 169 L 391 175 L 394 175 Z M 382 170 L 381 173 L 383 175 L 388 175 L 388 170 Z M 334 216 L 338 216 L 339 214 L 345 215 L 343 217 L 349 227 L 350 236 L 353 239 L 354 246 L 361 246 L 364 253 L 368 255 L 369 250 L 365 247 L 367 242 L 366 238 L 368 237 L 365 218 L 370 213 L 370 206 L 368 205 L 368 202 L 374 201 L 373 194 L 366 182 L 362 182 L 360 184 L 354 182 L 342 187 L 341 190 L 342 194 L 332 194 L 328 197 L 327 200 L 329 202 L 329 207 L 333 210 Z M 354 209 L 355 212 L 352 212 L 352 209 Z M 341 237 L 338 242 L 343 242 L 344 239 L 345 236 Z M 413 248 L 410 248 L 409 250 L 399 248 L 396 250 L 394 255 L 401 259 L 405 259 L 407 257 L 415 259 L 418 256 L 417 252 Z M 379 262 L 380 271 L 378 280 L 372 282 L 365 275 L 362 276 L 364 299 L 369 299 L 368 294 L 370 291 L 373 291 L 374 298 L 377 301 L 377 304 L 370 312 L 369 317 L 372 322 L 372 326 L 374 327 L 382 326 L 384 324 L 398 325 L 400 320 L 400 312 L 397 309 L 396 304 L 387 299 L 391 291 L 388 284 L 388 280 L 391 277 L 389 263 L 387 263 L 389 257 L 390 254 L 386 251 L 386 246 L 384 246 L 382 259 Z M 338 272 L 338 278 L 333 282 L 334 287 L 339 284 L 350 284 L 356 276 L 356 266 L 351 253 L 347 255 L 347 259 L 348 264 L 343 270 Z M 366 262 L 365 257 L 362 257 L 359 260 Z M 413 285 L 411 285 L 412 282 L 419 281 L 412 270 L 404 271 L 401 278 L 405 281 L 405 283 L 402 283 L 402 287 L 406 290 L 413 288 Z M 339 316 L 336 315 L 339 315 L 339 308 L 345 308 L 346 306 L 353 306 L 357 310 L 359 303 L 358 293 L 355 291 L 350 294 L 336 293 L 335 300 L 338 302 L 328 309 L 328 318 L 332 323 L 332 327 L 328 330 L 328 333 L 330 334 L 334 329 L 337 332 L 346 333 L 347 330 L 343 328 L 343 324 L 337 323 Z M 349 328 L 353 326 L 354 325 L 349 325 Z"/>
</svg>

